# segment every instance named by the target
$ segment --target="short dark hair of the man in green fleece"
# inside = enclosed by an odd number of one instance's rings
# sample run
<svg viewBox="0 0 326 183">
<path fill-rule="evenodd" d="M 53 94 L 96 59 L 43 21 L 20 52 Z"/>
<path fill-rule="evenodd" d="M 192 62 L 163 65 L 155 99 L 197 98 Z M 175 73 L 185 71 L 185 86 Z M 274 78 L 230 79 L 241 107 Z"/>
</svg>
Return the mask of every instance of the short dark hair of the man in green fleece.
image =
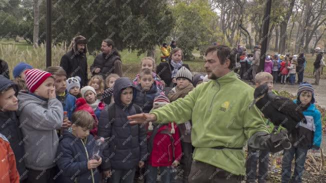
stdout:
<svg viewBox="0 0 326 183">
<path fill-rule="evenodd" d="M 208 53 L 216 51 L 217 57 L 219 59 L 220 64 L 224 64 L 227 59 L 230 60 L 230 65 L 228 68 L 231 70 L 235 67 L 235 51 L 232 51 L 228 46 L 224 45 L 212 45 L 209 46 L 205 51 L 205 56 L 207 56 Z"/>
</svg>

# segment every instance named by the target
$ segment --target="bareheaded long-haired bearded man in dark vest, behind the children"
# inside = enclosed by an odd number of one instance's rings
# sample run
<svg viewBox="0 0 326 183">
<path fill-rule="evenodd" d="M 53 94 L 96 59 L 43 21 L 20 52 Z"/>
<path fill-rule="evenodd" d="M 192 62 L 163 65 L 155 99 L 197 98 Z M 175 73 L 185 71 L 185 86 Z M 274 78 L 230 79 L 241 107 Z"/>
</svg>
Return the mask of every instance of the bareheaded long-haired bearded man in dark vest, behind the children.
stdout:
<svg viewBox="0 0 326 183">
<path fill-rule="evenodd" d="M 111 39 L 104 39 L 101 44 L 101 53 L 99 53 L 93 64 L 90 66 L 92 75 L 101 75 L 103 79 L 115 73 L 122 76 L 122 62 L 119 52 L 114 47 L 114 42 Z"/>
</svg>

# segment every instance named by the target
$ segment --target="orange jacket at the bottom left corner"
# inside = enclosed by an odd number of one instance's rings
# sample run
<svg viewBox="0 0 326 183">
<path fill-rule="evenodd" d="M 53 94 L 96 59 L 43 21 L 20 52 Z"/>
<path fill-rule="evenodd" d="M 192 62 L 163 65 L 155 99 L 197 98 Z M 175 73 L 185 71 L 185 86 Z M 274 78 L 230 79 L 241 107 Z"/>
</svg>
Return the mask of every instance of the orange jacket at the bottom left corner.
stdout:
<svg viewBox="0 0 326 183">
<path fill-rule="evenodd" d="M 0 134 L 0 180 L 1 183 L 19 183 L 14 154 L 8 140 Z"/>
</svg>

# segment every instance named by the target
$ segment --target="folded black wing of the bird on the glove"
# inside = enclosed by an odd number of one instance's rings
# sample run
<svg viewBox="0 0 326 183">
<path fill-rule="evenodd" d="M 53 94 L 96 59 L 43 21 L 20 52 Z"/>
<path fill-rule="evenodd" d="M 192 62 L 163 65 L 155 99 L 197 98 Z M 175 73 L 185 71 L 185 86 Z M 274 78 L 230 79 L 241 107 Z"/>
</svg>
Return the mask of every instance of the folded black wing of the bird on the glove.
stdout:
<svg viewBox="0 0 326 183">
<path fill-rule="evenodd" d="M 271 105 L 280 113 L 293 119 L 296 123 L 299 123 L 301 120 L 305 122 L 301 108 L 292 100 L 282 96 L 274 96 Z"/>
</svg>

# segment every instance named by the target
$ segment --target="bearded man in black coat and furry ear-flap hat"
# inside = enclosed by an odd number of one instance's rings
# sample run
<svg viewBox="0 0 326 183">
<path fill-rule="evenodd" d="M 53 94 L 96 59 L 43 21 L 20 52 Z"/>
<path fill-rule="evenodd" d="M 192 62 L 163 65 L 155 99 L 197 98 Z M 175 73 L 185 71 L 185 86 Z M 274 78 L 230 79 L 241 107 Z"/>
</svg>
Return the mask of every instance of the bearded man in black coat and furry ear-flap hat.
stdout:
<svg viewBox="0 0 326 183">
<path fill-rule="evenodd" d="M 78 35 L 71 41 L 71 50 L 62 56 L 60 66 L 67 73 L 67 78 L 79 76 L 80 88 L 87 85 L 87 40 Z"/>
</svg>

